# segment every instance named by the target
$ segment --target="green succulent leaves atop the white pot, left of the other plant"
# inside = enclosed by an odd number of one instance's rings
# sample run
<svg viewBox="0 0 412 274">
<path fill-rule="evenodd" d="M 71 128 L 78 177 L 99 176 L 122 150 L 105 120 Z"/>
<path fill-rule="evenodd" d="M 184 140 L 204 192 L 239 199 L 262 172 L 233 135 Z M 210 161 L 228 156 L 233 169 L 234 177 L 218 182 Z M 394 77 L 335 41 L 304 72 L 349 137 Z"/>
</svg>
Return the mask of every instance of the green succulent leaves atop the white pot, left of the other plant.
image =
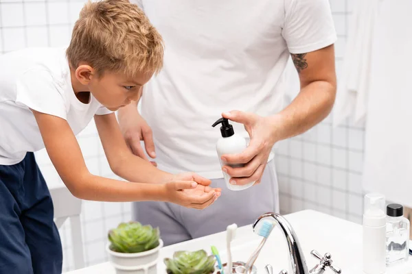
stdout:
<svg viewBox="0 0 412 274">
<path fill-rule="evenodd" d="M 110 249 L 120 253 L 138 253 L 159 246 L 159 228 L 139 222 L 120 223 L 108 232 Z"/>
</svg>

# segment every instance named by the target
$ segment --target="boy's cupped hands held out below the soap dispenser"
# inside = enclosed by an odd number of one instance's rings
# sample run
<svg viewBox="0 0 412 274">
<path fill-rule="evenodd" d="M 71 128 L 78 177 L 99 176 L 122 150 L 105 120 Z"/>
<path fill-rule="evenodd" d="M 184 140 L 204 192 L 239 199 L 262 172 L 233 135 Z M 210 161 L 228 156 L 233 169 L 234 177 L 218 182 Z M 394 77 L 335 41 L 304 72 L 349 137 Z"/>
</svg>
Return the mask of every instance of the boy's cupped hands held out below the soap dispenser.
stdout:
<svg viewBox="0 0 412 274">
<path fill-rule="evenodd" d="M 211 188 L 210 183 L 196 173 L 179 173 L 164 186 L 170 203 L 201 210 L 211 206 L 221 195 L 221 188 Z"/>
</svg>

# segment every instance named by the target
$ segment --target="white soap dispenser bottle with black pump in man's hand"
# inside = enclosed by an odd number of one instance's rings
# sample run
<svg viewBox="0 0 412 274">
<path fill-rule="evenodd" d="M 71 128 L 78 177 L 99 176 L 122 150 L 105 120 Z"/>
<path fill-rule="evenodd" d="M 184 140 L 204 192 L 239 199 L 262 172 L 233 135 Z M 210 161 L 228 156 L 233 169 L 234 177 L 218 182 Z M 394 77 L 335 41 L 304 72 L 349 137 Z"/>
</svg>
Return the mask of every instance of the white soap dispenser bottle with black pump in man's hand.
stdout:
<svg viewBox="0 0 412 274">
<path fill-rule="evenodd" d="M 237 154 L 244 151 L 247 148 L 246 139 L 244 139 L 239 134 L 235 134 L 233 130 L 233 126 L 229 124 L 229 120 L 226 118 L 220 118 L 216 121 L 212 127 L 216 127 L 218 124 L 222 124 L 220 127 L 220 133 L 222 134 L 222 138 L 220 138 L 216 144 L 216 151 L 218 152 L 220 166 L 231 166 L 235 167 L 243 167 L 244 164 L 227 164 L 226 162 L 222 161 L 223 154 Z M 227 173 L 223 173 L 223 177 L 225 178 L 226 186 L 230 190 L 245 190 L 250 188 L 255 184 L 255 182 L 251 182 L 249 184 L 238 186 L 230 184 L 231 177 Z"/>
</svg>

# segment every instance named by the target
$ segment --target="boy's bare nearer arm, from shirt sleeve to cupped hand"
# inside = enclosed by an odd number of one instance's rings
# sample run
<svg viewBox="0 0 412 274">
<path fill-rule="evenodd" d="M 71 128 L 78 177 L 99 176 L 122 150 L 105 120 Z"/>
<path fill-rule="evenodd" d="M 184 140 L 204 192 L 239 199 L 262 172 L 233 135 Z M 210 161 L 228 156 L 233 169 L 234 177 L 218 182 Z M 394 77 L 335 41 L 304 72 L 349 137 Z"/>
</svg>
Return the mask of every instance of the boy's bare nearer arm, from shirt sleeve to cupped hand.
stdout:
<svg viewBox="0 0 412 274">
<path fill-rule="evenodd" d="M 62 181 L 71 193 L 94 201 L 169 201 L 188 208 L 206 208 L 215 201 L 215 191 L 192 192 L 196 182 L 176 181 L 168 184 L 122 182 L 92 175 L 67 121 L 32 110 L 47 153 Z M 114 114 L 113 114 L 114 115 Z M 150 164 L 149 164 L 150 165 Z"/>
</svg>

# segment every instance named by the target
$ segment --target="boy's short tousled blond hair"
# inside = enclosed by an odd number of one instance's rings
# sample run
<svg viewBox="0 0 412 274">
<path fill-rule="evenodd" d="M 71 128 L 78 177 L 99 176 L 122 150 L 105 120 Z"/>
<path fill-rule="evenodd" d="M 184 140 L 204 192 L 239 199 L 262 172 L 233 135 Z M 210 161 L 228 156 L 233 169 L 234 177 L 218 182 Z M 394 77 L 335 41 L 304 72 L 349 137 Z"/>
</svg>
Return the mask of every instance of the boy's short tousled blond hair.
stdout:
<svg viewBox="0 0 412 274">
<path fill-rule="evenodd" d="M 128 0 L 102 0 L 84 5 L 67 48 L 73 69 L 85 62 L 98 75 L 104 71 L 159 73 L 163 40 L 140 8 Z"/>
</svg>

